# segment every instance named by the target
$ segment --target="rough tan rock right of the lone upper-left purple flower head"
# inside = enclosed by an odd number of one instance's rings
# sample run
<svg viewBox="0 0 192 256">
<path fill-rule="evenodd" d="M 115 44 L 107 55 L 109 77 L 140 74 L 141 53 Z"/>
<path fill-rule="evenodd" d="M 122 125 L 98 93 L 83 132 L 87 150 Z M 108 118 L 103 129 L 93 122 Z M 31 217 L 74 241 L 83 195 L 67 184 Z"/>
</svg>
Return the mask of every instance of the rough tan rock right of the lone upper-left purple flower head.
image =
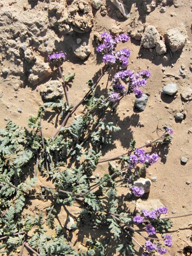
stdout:
<svg viewBox="0 0 192 256">
<path fill-rule="evenodd" d="M 84 60 L 91 53 L 88 38 L 83 37 L 80 44 L 74 44 L 73 52 L 78 58 Z"/>
</svg>

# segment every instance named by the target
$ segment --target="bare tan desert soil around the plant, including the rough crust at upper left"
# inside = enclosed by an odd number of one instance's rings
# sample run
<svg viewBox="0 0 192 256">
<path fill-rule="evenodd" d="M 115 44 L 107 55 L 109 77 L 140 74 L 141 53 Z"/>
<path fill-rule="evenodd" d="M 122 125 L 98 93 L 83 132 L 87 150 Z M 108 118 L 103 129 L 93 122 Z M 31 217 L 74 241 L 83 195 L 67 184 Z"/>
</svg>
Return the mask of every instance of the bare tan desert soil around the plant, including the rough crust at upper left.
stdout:
<svg viewBox="0 0 192 256">
<path fill-rule="evenodd" d="M 75 2 L 75 1 L 74 1 Z M 160 136 L 163 131 L 162 124 L 173 128 L 173 140 L 168 148 L 157 146 L 156 148 L 147 148 L 147 152 L 157 152 L 160 156 L 159 161 L 147 169 L 146 177 L 156 176 L 157 182 L 152 182 L 152 187 L 147 198 L 159 199 L 164 206 L 168 208 L 167 216 L 189 214 L 192 212 L 192 102 L 183 100 L 182 91 L 192 86 L 192 72 L 190 62 L 192 61 L 192 3 L 190 0 L 164 1 L 166 12 L 161 13 L 162 2 L 156 3 L 156 7 L 151 12 L 146 12 L 144 2 L 140 0 L 127 0 L 124 4 L 127 6 L 130 18 L 124 18 L 120 11 L 109 0 L 102 0 L 102 5 L 106 8 L 102 12 L 101 8 L 96 10 L 91 7 L 91 13 L 88 15 L 88 27 L 80 27 L 80 22 L 70 20 L 66 22 L 68 10 L 73 7 L 74 2 L 57 0 L 1 0 L 0 1 L 0 126 L 5 128 L 7 121 L 13 120 L 20 127 L 27 126 L 27 119 L 36 116 L 40 105 L 44 104 L 40 95 L 40 90 L 44 88 L 46 82 L 54 79 L 61 81 L 58 70 L 50 66 L 48 54 L 53 51 L 62 50 L 66 53 L 67 61 L 63 63 L 63 74 L 76 72 L 74 80 L 68 83 L 68 94 L 71 103 L 76 104 L 88 91 L 86 82 L 90 78 L 94 81 L 98 78 L 104 63 L 102 56 L 96 53 L 96 43 L 94 35 L 103 32 L 112 32 L 114 35 L 127 33 L 128 30 L 144 31 L 148 25 L 154 26 L 162 40 L 166 30 L 170 28 L 185 28 L 187 32 L 186 42 L 183 48 L 176 52 L 167 49 L 165 54 L 158 55 L 155 48 L 149 50 L 141 46 L 140 40 L 130 38 L 130 41 L 124 44 L 118 44 L 118 48 L 126 47 L 130 49 L 131 56 L 128 69 L 140 71 L 148 69 L 150 78 L 144 88 L 144 93 L 148 93 L 149 98 L 146 108 L 143 112 L 134 108 L 135 95 L 126 96 L 119 104 L 115 115 L 110 116 L 108 120 L 113 121 L 121 127 L 120 132 L 113 133 L 114 146 L 106 146 L 104 158 L 110 158 L 127 151 L 131 139 L 136 140 L 137 147 L 144 145 L 147 141 L 152 141 Z M 85 1 L 83 0 L 82 3 Z M 176 2 L 176 1 L 174 1 Z M 91 6 L 91 3 L 87 1 Z M 53 5 L 55 5 L 53 7 Z M 178 7 L 176 7 L 178 6 Z M 51 8 L 50 8 L 51 7 Z M 102 13 L 101 13 L 102 12 Z M 63 18 L 64 22 L 58 20 Z M 75 18 L 76 19 L 76 18 Z M 63 25 L 64 24 L 64 25 Z M 80 28 L 79 28 L 79 27 Z M 90 27 L 89 27 L 90 26 Z M 81 60 L 74 54 L 74 44 L 78 38 L 84 40 L 86 37 L 90 49 L 90 54 L 84 60 Z M 46 43 L 45 43 L 46 42 Z M 48 42 L 48 44 L 47 44 Z M 24 46 L 23 46 L 24 44 Z M 22 49 L 20 46 L 22 45 Z M 32 59 L 28 62 L 24 59 L 24 51 L 29 50 Z M 191 51 L 190 51 L 191 50 Z M 166 56 L 166 58 L 164 58 Z M 33 62 L 34 59 L 36 62 Z M 35 63 L 35 64 L 34 64 Z M 184 74 L 180 74 L 181 65 L 184 65 Z M 31 72 L 31 69 L 34 71 Z M 164 68 L 164 70 L 163 70 Z M 5 72 L 7 70 L 7 72 Z M 115 72 L 114 72 L 115 73 Z M 114 73 L 112 75 L 114 75 Z M 106 74 L 99 82 L 96 92 L 100 94 L 104 90 L 108 75 Z M 110 76 L 110 82 L 112 76 Z M 174 83 L 178 85 L 178 92 L 173 96 L 161 93 L 162 88 Z M 86 89 L 86 90 L 84 90 Z M 18 112 L 18 108 L 22 112 Z M 76 115 L 82 114 L 83 107 L 80 106 Z M 175 115 L 178 112 L 186 111 L 183 120 L 176 120 Z M 74 115 L 73 115 L 74 118 Z M 161 120 L 160 120 L 161 119 Z M 138 125 L 140 121 L 143 124 Z M 54 113 L 43 120 L 43 134 L 46 138 L 54 134 L 60 124 Z M 162 123 L 162 124 L 161 124 Z M 185 165 L 181 164 L 181 158 L 188 158 Z M 114 161 L 113 164 L 118 164 Z M 96 173 L 102 176 L 108 171 L 108 163 L 98 165 Z M 40 185 L 50 186 L 51 183 L 45 181 L 45 177 L 38 174 L 39 182 L 36 187 L 40 191 Z M 186 184 L 190 182 L 190 184 Z M 118 189 L 122 194 L 122 200 L 129 189 Z M 134 212 L 135 204 L 140 202 L 139 198 L 131 198 L 128 201 L 123 200 L 124 207 Z M 32 200 L 30 208 L 38 213 L 43 211 L 50 202 L 43 202 L 38 199 Z M 68 208 L 71 214 L 75 214 L 79 208 Z M 173 214 L 172 211 L 176 210 Z M 26 208 L 24 212 L 30 212 Z M 32 212 L 31 212 L 32 213 Z M 62 207 L 58 218 L 63 225 L 66 218 L 65 208 Z M 58 223 L 58 220 L 56 220 Z M 168 249 L 168 255 L 182 255 L 185 246 L 192 246 L 192 231 L 189 228 L 191 216 L 173 219 L 171 229 L 173 235 L 173 246 Z M 53 230 L 48 230 L 51 234 Z M 99 238 L 102 236 L 102 230 L 93 232 L 82 229 L 71 235 L 72 244 L 77 249 L 81 244 L 86 243 L 90 236 Z M 92 235 L 91 235 L 92 234 Z M 140 242 L 144 242 L 140 240 Z M 111 251 L 108 255 L 114 255 L 111 245 Z M 138 253 L 139 248 L 135 247 Z M 16 253 L 15 253 L 16 255 Z M 23 255 L 28 255 L 24 248 Z"/>
</svg>

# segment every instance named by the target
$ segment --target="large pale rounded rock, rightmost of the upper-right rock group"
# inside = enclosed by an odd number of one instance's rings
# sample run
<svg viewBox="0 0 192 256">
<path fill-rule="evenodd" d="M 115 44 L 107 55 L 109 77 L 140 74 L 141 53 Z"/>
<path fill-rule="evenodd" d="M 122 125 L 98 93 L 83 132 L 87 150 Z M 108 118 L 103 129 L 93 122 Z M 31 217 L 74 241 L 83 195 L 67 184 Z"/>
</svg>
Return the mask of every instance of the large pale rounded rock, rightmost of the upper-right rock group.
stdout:
<svg viewBox="0 0 192 256">
<path fill-rule="evenodd" d="M 184 28 L 170 28 L 164 34 L 165 43 L 170 47 L 172 52 L 182 48 L 186 42 L 187 32 Z"/>
</svg>

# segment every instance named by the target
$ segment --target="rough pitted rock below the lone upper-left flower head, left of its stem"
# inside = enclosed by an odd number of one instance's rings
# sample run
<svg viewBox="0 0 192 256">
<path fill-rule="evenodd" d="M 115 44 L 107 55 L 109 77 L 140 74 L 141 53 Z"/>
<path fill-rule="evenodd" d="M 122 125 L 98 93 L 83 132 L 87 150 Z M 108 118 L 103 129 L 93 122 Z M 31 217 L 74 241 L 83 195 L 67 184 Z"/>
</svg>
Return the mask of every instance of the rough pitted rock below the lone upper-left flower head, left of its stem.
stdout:
<svg viewBox="0 0 192 256">
<path fill-rule="evenodd" d="M 57 80 L 51 80 L 44 84 L 44 87 L 40 90 L 43 100 L 54 100 L 62 98 L 64 95 L 64 89 L 62 83 Z"/>
</svg>

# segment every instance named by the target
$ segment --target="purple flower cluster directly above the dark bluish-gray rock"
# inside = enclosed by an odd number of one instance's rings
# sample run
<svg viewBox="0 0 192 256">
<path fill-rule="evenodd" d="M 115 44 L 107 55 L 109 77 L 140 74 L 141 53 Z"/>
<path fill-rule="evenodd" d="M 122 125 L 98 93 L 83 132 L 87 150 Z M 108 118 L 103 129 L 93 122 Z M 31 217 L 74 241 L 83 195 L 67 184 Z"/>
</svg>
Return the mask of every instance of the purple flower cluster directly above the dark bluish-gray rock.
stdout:
<svg viewBox="0 0 192 256">
<path fill-rule="evenodd" d="M 142 79 L 139 79 L 141 76 L 142 76 Z M 139 87 L 146 86 L 146 79 L 149 76 L 150 76 L 150 73 L 147 70 L 141 71 L 140 73 L 137 73 L 137 74 L 134 74 L 131 70 L 125 70 L 115 74 L 113 83 L 117 84 L 119 79 L 125 80 L 125 82 L 128 82 L 129 80 L 130 92 L 134 92 L 138 98 L 141 98 L 142 91 L 139 89 Z"/>
</svg>

